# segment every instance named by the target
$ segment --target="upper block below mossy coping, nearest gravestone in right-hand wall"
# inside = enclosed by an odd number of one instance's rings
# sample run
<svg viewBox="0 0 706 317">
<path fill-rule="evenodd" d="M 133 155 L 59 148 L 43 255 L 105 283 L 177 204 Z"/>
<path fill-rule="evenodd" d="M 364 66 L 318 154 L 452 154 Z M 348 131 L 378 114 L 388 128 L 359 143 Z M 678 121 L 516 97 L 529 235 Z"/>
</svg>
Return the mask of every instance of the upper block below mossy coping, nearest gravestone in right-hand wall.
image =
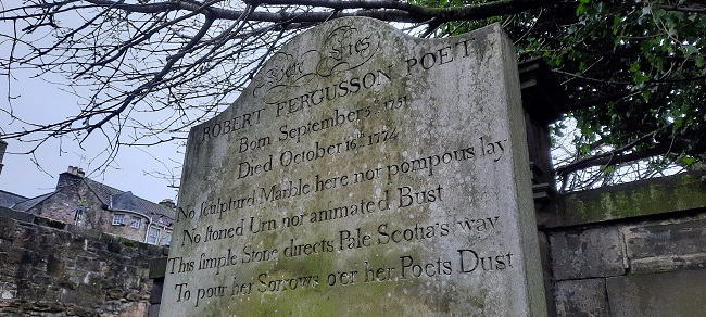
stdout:
<svg viewBox="0 0 706 317">
<path fill-rule="evenodd" d="M 623 240 L 616 227 L 550 234 L 552 269 L 557 280 L 623 275 Z"/>
</svg>

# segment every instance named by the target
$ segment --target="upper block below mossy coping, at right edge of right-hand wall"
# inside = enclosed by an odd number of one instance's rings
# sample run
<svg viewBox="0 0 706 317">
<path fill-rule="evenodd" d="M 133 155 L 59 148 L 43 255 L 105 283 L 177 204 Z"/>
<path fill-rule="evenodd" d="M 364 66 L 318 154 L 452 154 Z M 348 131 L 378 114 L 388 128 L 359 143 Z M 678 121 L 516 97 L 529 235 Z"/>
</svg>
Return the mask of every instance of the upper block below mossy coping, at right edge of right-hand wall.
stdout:
<svg viewBox="0 0 706 317">
<path fill-rule="evenodd" d="M 626 228 L 625 237 L 632 272 L 705 268 L 705 216 Z"/>
</svg>

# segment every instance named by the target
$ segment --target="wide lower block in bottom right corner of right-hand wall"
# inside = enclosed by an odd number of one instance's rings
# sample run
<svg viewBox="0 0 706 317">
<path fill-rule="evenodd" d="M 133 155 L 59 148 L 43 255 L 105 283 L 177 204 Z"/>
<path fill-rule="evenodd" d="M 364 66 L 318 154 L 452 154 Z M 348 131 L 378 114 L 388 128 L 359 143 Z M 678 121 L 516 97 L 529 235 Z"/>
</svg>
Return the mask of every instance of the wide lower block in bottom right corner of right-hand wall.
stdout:
<svg viewBox="0 0 706 317">
<path fill-rule="evenodd" d="M 706 270 L 608 278 L 613 316 L 704 316 Z"/>
</svg>

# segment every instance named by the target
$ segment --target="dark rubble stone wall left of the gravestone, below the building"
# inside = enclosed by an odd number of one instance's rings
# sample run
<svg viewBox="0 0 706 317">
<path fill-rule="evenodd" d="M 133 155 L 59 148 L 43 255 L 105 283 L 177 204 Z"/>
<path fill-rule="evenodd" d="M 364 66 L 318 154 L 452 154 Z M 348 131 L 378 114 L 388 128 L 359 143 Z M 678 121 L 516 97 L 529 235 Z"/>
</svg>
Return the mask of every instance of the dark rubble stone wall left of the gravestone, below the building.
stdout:
<svg viewBox="0 0 706 317">
<path fill-rule="evenodd" d="M 0 208 L 0 315 L 146 316 L 150 259 L 166 254 Z"/>
</svg>

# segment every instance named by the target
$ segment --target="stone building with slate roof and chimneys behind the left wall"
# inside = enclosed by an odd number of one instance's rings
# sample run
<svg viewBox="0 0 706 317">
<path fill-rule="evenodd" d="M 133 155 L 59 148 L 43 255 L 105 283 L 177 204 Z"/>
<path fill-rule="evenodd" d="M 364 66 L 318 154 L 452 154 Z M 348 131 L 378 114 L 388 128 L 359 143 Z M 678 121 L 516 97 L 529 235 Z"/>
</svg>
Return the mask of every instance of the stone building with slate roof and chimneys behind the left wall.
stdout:
<svg viewBox="0 0 706 317">
<path fill-rule="evenodd" d="M 59 175 L 50 193 L 16 202 L 12 210 L 150 244 L 172 240 L 174 202 L 153 203 L 85 177 L 78 167 Z"/>
</svg>

